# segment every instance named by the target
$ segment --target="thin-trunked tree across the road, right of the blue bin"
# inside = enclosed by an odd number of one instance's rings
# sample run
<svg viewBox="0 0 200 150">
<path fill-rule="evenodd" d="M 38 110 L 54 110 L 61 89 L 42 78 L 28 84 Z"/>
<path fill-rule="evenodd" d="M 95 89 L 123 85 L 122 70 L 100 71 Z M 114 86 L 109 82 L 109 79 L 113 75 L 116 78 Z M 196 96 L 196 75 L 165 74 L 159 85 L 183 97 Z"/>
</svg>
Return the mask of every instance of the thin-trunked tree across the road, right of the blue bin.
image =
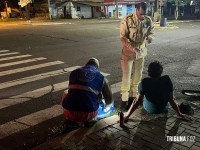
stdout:
<svg viewBox="0 0 200 150">
<path fill-rule="evenodd" d="M 174 17 L 176 20 L 178 19 L 179 16 L 179 7 L 187 5 L 189 1 L 190 0 L 168 0 L 168 2 L 172 3 L 176 7 L 174 12 Z"/>
</svg>

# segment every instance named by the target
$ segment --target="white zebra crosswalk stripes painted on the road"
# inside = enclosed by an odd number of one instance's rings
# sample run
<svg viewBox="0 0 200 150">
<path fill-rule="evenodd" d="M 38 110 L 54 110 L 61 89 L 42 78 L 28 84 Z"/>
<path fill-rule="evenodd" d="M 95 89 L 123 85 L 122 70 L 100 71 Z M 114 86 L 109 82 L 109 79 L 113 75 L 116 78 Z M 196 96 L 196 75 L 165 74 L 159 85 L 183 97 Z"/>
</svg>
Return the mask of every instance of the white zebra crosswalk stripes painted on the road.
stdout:
<svg viewBox="0 0 200 150">
<path fill-rule="evenodd" d="M 0 53 L 4 54 L 4 52 L 9 52 L 9 50 L 0 50 Z M 14 54 L 14 52 L 12 52 L 12 53 Z M 19 54 L 19 53 L 17 52 L 16 54 Z M 11 55 L 11 53 L 10 53 L 10 55 Z M 0 56 L 7 56 L 7 55 L 0 54 Z M 30 62 L 37 62 L 39 60 L 46 60 L 46 58 L 44 58 L 44 57 L 39 57 L 39 58 L 31 58 L 31 59 L 17 61 L 18 58 L 26 58 L 26 57 L 31 57 L 31 55 L 19 55 L 19 56 L 14 56 L 14 57 L 0 58 L 0 61 L 14 60 L 13 62 L 0 64 L 0 68 L 7 67 L 7 66 L 14 67 L 17 64 L 25 64 L 25 63 L 30 63 Z M 31 70 L 38 69 L 38 68 L 51 67 L 51 66 L 60 65 L 63 63 L 64 62 L 61 62 L 61 61 L 54 61 L 54 62 L 48 62 L 48 63 L 41 63 L 38 65 L 29 66 L 29 67 L 1 71 L 0 76 L 17 74 L 20 72 L 31 71 Z M 79 67 L 80 66 L 72 66 L 72 67 L 53 70 L 53 71 L 49 71 L 49 72 L 45 72 L 45 73 L 35 74 L 35 75 L 31 75 L 28 77 L 23 77 L 23 78 L 11 80 L 11 81 L 5 81 L 3 83 L 0 83 L 0 92 L 1 92 L 1 90 L 7 89 L 7 88 L 17 88 L 19 85 L 22 85 L 25 83 L 30 83 L 30 84 L 32 82 L 40 83 L 40 80 L 42 80 L 42 79 L 67 74 Z M 102 73 L 102 74 L 104 76 L 110 75 L 108 73 Z M 44 87 L 40 87 L 37 89 L 33 89 L 31 91 L 27 91 L 25 93 L 10 96 L 6 99 L 5 98 L 0 99 L 0 113 L 1 113 L 2 109 L 7 109 L 11 106 L 16 106 L 17 104 L 21 105 L 24 102 L 32 101 L 34 98 L 39 98 L 43 95 L 58 92 L 61 90 L 64 91 L 68 88 L 68 83 L 69 83 L 69 81 L 54 83 L 54 84 L 51 84 L 48 86 L 44 86 Z M 116 83 L 114 85 L 111 85 L 112 92 L 113 93 L 118 92 L 120 89 L 119 88 L 120 85 L 121 85 L 121 83 Z M 45 108 L 42 110 L 38 110 L 33 113 L 26 114 L 24 116 L 20 116 L 19 118 L 16 118 L 14 120 L 5 122 L 0 125 L 0 140 L 4 139 L 14 133 L 18 133 L 23 130 L 29 129 L 30 127 L 38 125 L 44 121 L 58 117 L 58 116 L 62 115 L 62 113 L 63 113 L 63 111 L 62 111 L 61 105 L 56 104 L 51 107 L 48 107 L 48 108 Z"/>
</svg>

